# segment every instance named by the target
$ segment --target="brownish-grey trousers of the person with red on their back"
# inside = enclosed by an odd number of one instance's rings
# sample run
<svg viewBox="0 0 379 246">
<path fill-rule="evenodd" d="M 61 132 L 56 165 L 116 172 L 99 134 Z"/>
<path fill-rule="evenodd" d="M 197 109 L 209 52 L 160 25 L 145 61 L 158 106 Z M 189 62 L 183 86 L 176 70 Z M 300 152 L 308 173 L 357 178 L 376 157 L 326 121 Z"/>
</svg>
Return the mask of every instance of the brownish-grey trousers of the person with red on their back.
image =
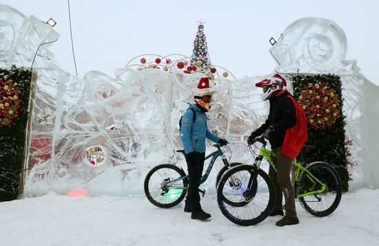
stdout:
<svg viewBox="0 0 379 246">
<path fill-rule="evenodd" d="M 276 172 L 274 168 L 269 167 L 269 177 L 274 183 L 275 189 L 275 203 L 274 209 L 282 209 L 282 199 L 283 194 L 285 196 L 285 215 L 289 217 L 297 217 L 296 216 L 296 207 L 295 207 L 295 190 L 294 185 L 291 183 L 291 167 L 292 161 L 291 159 L 284 154 L 282 154 L 282 146 L 277 147 L 273 150 L 277 156 L 276 161 Z"/>
</svg>

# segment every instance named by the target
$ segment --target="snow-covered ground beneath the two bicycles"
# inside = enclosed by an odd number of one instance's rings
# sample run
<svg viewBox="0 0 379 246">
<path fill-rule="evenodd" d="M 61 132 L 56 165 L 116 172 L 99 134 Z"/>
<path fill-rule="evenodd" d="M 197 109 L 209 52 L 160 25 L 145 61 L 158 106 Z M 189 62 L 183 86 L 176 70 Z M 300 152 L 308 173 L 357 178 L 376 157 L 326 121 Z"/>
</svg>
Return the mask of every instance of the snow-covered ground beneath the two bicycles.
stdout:
<svg viewBox="0 0 379 246">
<path fill-rule="evenodd" d="M 221 214 L 203 198 L 209 221 L 194 221 L 183 204 L 152 205 L 145 196 L 71 197 L 50 193 L 0 203 L 0 245 L 379 245 L 379 189 L 342 195 L 330 216 L 316 218 L 296 203 L 299 225 L 277 227 L 280 216 L 251 227 Z"/>
</svg>

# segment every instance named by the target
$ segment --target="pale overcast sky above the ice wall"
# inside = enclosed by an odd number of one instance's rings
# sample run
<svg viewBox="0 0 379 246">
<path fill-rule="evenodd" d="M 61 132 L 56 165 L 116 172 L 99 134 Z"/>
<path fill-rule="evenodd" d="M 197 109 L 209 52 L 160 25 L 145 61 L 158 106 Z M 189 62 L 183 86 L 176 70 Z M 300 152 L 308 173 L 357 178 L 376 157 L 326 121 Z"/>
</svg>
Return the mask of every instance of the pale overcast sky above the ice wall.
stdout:
<svg viewBox="0 0 379 246">
<path fill-rule="evenodd" d="M 3 0 L 47 21 L 61 35 L 52 45 L 63 70 L 75 74 L 67 0 Z M 362 74 L 379 85 L 379 1 L 116 1 L 71 0 L 74 52 L 79 77 L 99 70 L 114 77 L 116 68 L 140 54 L 191 56 L 196 21 L 205 21 L 209 55 L 214 65 L 237 79 L 269 74 L 276 67 L 269 38 L 278 38 L 293 21 L 322 17 L 345 31 L 347 59 L 357 59 Z"/>
</svg>

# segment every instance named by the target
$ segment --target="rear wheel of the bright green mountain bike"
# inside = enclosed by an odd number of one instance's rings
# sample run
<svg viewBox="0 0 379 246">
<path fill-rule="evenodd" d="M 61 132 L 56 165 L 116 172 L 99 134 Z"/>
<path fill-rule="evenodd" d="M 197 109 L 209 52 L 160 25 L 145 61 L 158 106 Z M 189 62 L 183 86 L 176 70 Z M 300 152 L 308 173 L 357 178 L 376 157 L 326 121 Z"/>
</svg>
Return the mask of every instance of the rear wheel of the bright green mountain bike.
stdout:
<svg viewBox="0 0 379 246">
<path fill-rule="evenodd" d="M 302 207 L 314 216 L 323 217 L 336 210 L 341 201 L 342 183 L 338 172 L 325 162 L 314 162 L 306 169 L 327 187 L 324 192 L 299 198 Z M 302 172 L 296 187 L 296 195 L 320 190 L 322 185 L 312 181 L 307 172 Z"/>
</svg>

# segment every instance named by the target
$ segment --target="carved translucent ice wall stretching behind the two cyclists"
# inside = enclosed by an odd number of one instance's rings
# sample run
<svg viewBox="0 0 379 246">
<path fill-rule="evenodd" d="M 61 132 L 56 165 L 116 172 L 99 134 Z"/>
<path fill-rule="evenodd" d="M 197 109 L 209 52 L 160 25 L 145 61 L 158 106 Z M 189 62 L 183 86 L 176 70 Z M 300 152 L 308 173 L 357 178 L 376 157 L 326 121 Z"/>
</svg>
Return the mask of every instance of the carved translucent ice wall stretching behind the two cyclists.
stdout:
<svg viewBox="0 0 379 246">
<path fill-rule="evenodd" d="M 77 188 L 94 196 L 140 194 L 152 165 L 170 162 L 185 168 L 183 156 L 174 152 L 181 148 L 178 119 L 193 101 L 203 74 L 128 65 L 115 71 L 116 79 L 96 71 L 79 79 L 60 70 L 49 52 L 50 42 L 59 37 L 50 26 L 8 6 L 0 5 L 0 12 L 1 67 L 30 67 L 37 54 L 25 196 Z M 342 76 L 351 161 L 359 164 L 353 170 L 356 186 L 378 187 L 374 179 L 365 181 L 378 176 L 378 167 L 367 164 L 378 157 L 378 131 L 372 128 L 378 120 L 378 101 L 372 97 L 378 87 L 358 72 L 355 61 L 344 60 L 346 48 L 345 34 L 336 23 L 305 18 L 283 32 L 272 54 L 280 64 L 278 72 Z M 252 162 L 245 136 L 267 115 L 254 87 L 263 77 L 220 76 L 215 81 L 217 104 L 209 113 L 209 127 L 232 142 L 232 161 Z M 214 187 L 214 177 L 206 189 Z"/>
</svg>

